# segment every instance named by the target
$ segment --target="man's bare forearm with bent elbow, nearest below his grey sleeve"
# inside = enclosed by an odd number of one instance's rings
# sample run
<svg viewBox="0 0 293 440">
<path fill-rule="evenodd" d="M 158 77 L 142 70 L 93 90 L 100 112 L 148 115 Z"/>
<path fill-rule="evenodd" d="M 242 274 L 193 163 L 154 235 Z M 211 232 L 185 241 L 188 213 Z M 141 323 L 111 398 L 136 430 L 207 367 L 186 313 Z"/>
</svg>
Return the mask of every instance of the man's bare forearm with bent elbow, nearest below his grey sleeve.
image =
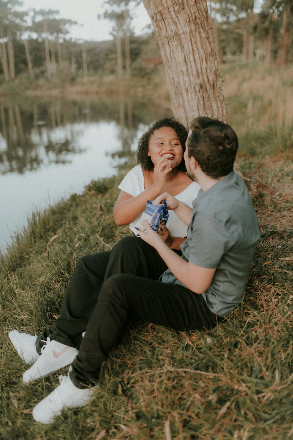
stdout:
<svg viewBox="0 0 293 440">
<path fill-rule="evenodd" d="M 190 261 L 185 261 L 163 242 L 159 235 L 152 230 L 146 220 L 144 221 L 144 226 L 146 233 L 141 231 L 137 231 L 137 233 L 142 240 L 158 251 L 173 275 L 181 281 L 184 286 L 192 290 L 192 292 L 205 292 L 212 282 L 216 268 L 201 268 Z"/>
</svg>

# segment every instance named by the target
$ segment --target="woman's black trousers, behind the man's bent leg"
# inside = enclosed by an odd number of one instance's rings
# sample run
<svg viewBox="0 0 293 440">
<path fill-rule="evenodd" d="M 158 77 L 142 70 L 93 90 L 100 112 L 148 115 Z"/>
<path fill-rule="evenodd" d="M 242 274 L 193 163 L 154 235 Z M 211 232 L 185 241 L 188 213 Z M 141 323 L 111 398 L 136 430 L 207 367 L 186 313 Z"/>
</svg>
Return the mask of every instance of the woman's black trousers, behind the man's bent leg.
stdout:
<svg viewBox="0 0 293 440">
<path fill-rule="evenodd" d="M 175 251 L 181 255 L 181 251 Z M 78 260 L 54 325 L 36 341 L 37 352 L 47 337 L 79 348 L 82 333 L 97 304 L 104 282 L 113 275 L 129 274 L 158 280 L 167 266 L 156 249 L 140 237 L 125 237 L 112 250 Z"/>
</svg>

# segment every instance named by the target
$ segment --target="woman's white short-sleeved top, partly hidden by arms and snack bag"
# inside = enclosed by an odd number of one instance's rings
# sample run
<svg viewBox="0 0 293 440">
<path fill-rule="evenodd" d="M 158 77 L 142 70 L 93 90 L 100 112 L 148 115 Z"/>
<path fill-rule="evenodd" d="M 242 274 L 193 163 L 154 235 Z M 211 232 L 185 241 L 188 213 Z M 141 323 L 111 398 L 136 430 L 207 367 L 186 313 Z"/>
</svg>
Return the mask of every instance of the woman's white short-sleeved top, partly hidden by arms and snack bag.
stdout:
<svg viewBox="0 0 293 440">
<path fill-rule="evenodd" d="M 145 179 L 141 165 L 136 165 L 133 169 L 131 169 L 124 177 L 118 188 L 127 192 L 133 197 L 145 191 Z M 175 198 L 192 208 L 192 201 L 196 198 L 199 190 L 199 184 L 192 182 L 184 191 L 182 191 L 180 194 L 177 194 Z M 131 231 L 133 231 L 135 235 L 137 234 L 137 230 L 135 229 L 134 225 L 137 224 L 137 222 L 140 220 L 140 217 L 141 215 L 129 225 Z M 169 211 L 169 218 L 166 223 L 166 227 L 169 229 L 170 234 L 173 237 L 186 237 L 187 235 L 186 224 L 184 224 L 173 211 Z"/>
</svg>

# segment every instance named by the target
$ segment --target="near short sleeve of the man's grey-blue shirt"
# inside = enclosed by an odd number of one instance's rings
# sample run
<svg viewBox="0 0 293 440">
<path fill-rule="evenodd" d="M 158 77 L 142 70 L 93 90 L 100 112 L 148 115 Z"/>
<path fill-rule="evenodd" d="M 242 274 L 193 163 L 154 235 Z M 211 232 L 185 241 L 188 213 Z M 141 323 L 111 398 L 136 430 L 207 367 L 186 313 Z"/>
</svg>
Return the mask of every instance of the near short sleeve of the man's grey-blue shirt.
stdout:
<svg viewBox="0 0 293 440">
<path fill-rule="evenodd" d="M 188 241 L 189 261 L 201 268 L 214 269 L 233 245 L 225 225 L 213 216 L 196 213 Z"/>
</svg>

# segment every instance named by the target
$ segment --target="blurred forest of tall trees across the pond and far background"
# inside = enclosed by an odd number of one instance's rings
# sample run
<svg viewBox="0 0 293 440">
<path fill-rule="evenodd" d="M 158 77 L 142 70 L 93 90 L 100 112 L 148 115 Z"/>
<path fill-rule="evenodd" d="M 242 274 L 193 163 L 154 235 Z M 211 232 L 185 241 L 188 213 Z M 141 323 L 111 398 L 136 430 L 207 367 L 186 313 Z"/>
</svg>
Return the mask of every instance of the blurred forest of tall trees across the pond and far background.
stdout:
<svg viewBox="0 0 293 440">
<path fill-rule="evenodd" d="M 141 0 L 105 1 L 100 18 L 112 22 L 112 40 L 69 37 L 76 24 L 56 10 L 21 11 L 19 0 L 0 0 L 0 89 L 7 83 L 27 88 L 48 81 L 156 75 L 162 63 L 152 29 L 135 36 L 132 18 Z M 209 1 L 220 64 L 260 61 L 284 66 L 293 60 L 293 4 L 290 0 Z M 6 83 L 6 87 L 5 87 Z"/>
</svg>

